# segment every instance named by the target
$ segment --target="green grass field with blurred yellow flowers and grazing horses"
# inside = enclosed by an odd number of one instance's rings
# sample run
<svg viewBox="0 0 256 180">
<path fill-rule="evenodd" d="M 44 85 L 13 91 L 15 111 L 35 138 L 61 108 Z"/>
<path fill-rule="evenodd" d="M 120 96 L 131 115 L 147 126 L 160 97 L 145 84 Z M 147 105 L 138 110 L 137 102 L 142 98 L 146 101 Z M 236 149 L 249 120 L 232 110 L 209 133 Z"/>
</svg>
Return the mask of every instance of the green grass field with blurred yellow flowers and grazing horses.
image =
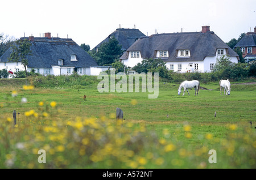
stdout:
<svg viewBox="0 0 256 180">
<path fill-rule="evenodd" d="M 178 96 L 178 83 L 160 82 L 158 98 L 149 99 L 148 92 L 99 93 L 97 82 L 0 83 L 0 168 L 256 168 L 255 84 L 232 83 L 230 96 L 220 95 L 218 82 L 200 84 L 212 91 Z M 125 120 L 115 120 L 116 108 Z M 208 161 L 210 149 L 217 163 Z"/>
</svg>

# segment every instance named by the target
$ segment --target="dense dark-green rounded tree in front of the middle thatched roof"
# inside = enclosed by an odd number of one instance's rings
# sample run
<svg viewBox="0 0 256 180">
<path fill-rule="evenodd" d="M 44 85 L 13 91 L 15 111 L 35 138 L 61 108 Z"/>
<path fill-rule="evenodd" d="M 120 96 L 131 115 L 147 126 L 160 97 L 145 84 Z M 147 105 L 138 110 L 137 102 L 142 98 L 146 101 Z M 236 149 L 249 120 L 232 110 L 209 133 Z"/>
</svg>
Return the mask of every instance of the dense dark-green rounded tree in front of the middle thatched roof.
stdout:
<svg viewBox="0 0 256 180">
<path fill-rule="evenodd" d="M 112 36 L 108 42 L 104 42 L 98 52 L 96 53 L 98 58 L 95 58 L 99 66 L 110 65 L 115 60 L 119 59 L 123 53 L 122 46 L 118 44 L 117 39 Z"/>
</svg>

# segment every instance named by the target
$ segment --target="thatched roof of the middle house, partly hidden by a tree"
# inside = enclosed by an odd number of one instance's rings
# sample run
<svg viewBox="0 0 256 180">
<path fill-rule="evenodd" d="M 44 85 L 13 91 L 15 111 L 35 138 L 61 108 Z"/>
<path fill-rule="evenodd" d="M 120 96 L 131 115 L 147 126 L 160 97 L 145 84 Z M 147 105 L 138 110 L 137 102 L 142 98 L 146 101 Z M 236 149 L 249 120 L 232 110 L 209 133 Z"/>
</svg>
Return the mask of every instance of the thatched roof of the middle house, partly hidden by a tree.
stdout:
<svg viewBox="0 0 256 180">
<path fill-rule="evenodd" d="M 117 39 L 119 45 L 122 45 L 122 50 L 127 50 L 128 48 L 130 48 L 131 45 L 134 44 L 135 41 L 138 40 L 138 38 L 145 35 L 141 31 L 139 31 L 139 29 L 119 28 L 111 33 L 108 37 L 106 37 L 105 40 L 101 41 L 100 44 L 95 46 L 95 48 L 93 49 L 99 48 L 104 42 L 108 42 L 110 37 L 112 36 Z"/>
</svg>

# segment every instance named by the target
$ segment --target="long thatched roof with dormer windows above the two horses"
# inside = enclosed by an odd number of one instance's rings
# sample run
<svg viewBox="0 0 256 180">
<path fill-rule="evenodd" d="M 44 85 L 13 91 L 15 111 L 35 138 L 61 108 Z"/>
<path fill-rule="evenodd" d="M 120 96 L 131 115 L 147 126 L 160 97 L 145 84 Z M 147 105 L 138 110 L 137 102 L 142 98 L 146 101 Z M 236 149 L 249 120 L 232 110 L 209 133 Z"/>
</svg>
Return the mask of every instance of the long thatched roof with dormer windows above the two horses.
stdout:
<svg viewBox="0 0 256 180">
<path fill-rule="evenodd" d="M 190 57 L 177 57 L 177 51 L 188 49 Z M 142 37 L 137 40 L 120 59 L 127 59 L 130 51 L 139 51 L 143 59 L 156 58 L 156 51 L 168 50 L 169 57 L 163 58 L 165 62 L 176 61 L 204 61 L 205 57 L 214 57 L 217 49 L 226 49 L 228 54 L 238 57 L 220 37 L 212 31 L 163 33 Z"/>
</svg>

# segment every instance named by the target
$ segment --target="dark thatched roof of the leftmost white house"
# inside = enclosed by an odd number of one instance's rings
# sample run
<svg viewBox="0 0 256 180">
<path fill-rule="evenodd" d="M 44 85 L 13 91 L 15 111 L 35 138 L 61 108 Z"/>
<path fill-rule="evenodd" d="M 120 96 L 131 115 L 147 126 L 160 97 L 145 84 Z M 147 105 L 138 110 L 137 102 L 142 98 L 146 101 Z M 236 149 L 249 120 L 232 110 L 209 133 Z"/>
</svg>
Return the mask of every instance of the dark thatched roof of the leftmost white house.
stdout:
<svg viewBox="0 0 256 180">
<path fill-rule="evenodd" d="M 28 39 L 28 37 L 22 37 L 20 40 L 24 38 Z M 28 55 L 28 68 L 58 66 L 59 59 L 63 59 L 63 66 L 98 66 L 96 61 L 71 38 L 34 37 L 34 41 L 31 41 L 31 44 L 32 55 Z M 8 62 L 12 52 L 13 50 L 9 48 L 0 57 L 0 62 Z M 71 61 L 71 55 L 76 55 L 78 61 Z"/>
</svg>

